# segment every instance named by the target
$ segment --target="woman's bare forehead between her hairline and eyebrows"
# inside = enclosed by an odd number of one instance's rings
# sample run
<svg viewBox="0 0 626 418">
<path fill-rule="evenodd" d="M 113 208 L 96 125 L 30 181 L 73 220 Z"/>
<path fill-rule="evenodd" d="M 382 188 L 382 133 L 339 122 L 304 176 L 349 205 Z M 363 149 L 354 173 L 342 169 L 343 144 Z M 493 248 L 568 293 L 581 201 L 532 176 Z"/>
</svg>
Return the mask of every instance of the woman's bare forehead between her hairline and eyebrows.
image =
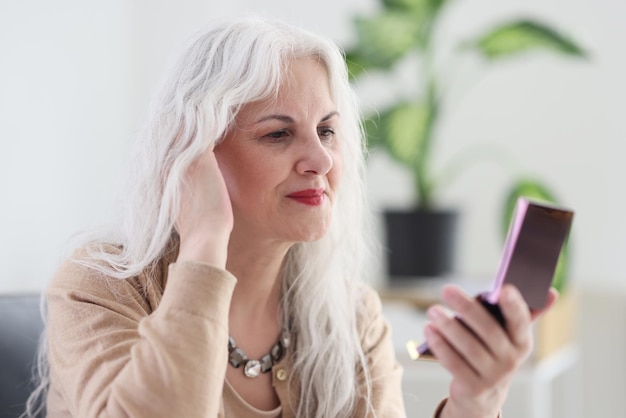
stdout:
<svg viewBox="0 0 626 418">
<path fill-rule="evenodd" d="M 244 105 L 237 120 L 254 122 L 262 114 L 279 113 L 299 119 L 335 111 L 325 65 L 317 58 L 289 61 L 276 95 Z"/>
</svg>

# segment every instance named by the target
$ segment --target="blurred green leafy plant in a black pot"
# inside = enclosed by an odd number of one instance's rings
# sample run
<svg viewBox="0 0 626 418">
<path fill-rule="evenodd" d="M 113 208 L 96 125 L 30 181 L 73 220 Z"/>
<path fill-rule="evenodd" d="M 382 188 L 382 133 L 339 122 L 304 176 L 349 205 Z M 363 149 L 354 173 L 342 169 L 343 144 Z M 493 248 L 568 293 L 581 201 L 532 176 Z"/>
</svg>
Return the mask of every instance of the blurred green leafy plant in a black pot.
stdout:
<svg viewBox="0 0 626 418">
<path fill-rule="evenodd" d="M 420 64 L 416 73 L 418 93 L 368 116 L 364 123 L 368 146 L 386 150 L 410 170 L 415 184 L 414 210 L 385 213 L 391 277 L 439 276 L 453 269 L 457 214 L 438 206 L 440 173 L 434 172 L 431 164 L 433 141 L 443 121 L 446 100 L 441 80 L 444 69 L 435 62 L 438 45 L 434 34 L 449 3 L 452 2 L 381 0 L 376 14 L 355 18 L 356 44 L 346 51 L 353 80 L 365 72 L 391 75 L 399 62 L 409 56 L 417 58 Z M 495 63 L 536 50 L 576 58 L 586 56 L 577 43 L 533 19 L 496 25 L 462 42 L 455 53 L 473 54 Z M 555 200 L 545 185 L 532 179 L 520 179 L 512 185 L 506 202 L 515 201 L 519 194 Z M 508 219 L 510 214 L 505 216 Z M 426 254 L 420 255 L 421 250 Z M 403 261 L 405 256 L 408 261 Z"/>
</svg>

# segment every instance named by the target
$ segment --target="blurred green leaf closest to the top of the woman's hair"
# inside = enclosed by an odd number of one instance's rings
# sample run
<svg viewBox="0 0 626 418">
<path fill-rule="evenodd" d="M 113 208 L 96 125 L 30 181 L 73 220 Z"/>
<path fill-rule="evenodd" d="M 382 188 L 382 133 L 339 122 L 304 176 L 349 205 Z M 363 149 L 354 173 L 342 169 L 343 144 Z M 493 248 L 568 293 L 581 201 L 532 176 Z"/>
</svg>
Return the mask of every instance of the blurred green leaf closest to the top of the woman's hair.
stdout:
<svg viewBox="0 0 626 418">
<path fill-rule="evenodd" d="M 389 69 L 418 45 L 419 24 L 410 15 L 384 11 L 372 18 L 355 20 L 358 46 L 352 50 L 361 65 Z"/>
</svg>

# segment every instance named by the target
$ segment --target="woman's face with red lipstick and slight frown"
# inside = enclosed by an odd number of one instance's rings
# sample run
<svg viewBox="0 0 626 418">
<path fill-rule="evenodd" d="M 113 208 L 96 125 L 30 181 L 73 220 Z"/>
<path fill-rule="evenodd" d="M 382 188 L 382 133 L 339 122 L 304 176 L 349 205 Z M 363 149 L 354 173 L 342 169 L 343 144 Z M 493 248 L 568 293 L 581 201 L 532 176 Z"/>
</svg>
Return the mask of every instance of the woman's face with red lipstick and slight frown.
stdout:
<svg viewBox="0 0 626 418">
<path fill-rule="evenodd" d="M 326 69 L 291 62 L 275 99 L 253 102 L 215 147 L 233 206 L 233 234 L 313 241 L 329 228 L 341 175 L 339 114 Z"/>
</svg>

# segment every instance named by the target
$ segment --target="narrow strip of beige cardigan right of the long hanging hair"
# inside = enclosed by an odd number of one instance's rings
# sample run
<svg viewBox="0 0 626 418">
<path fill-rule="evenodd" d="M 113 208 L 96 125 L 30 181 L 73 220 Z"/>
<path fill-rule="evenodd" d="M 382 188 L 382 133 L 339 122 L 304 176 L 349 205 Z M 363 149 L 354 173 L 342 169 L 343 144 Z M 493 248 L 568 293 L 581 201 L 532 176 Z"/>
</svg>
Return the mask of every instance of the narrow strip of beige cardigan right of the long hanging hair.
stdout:
<svg viewBox="0 0 626 418">
<path fill-rule="evenodd" d="M 405 417 L 402 366 L 395 357 L 391 330 L 383 317 L 380 297 L 371 288 L 364 290 L 364 313 L 359 321 L 359 332 L 369 368 L 371 406 L 376 417 Z M 364 382 L 364 376 L 359 376 L 359 381 Z M 355 416 L 369 416 L 365 410 L 365 405 L 359 405 Z"/>
</svg>

